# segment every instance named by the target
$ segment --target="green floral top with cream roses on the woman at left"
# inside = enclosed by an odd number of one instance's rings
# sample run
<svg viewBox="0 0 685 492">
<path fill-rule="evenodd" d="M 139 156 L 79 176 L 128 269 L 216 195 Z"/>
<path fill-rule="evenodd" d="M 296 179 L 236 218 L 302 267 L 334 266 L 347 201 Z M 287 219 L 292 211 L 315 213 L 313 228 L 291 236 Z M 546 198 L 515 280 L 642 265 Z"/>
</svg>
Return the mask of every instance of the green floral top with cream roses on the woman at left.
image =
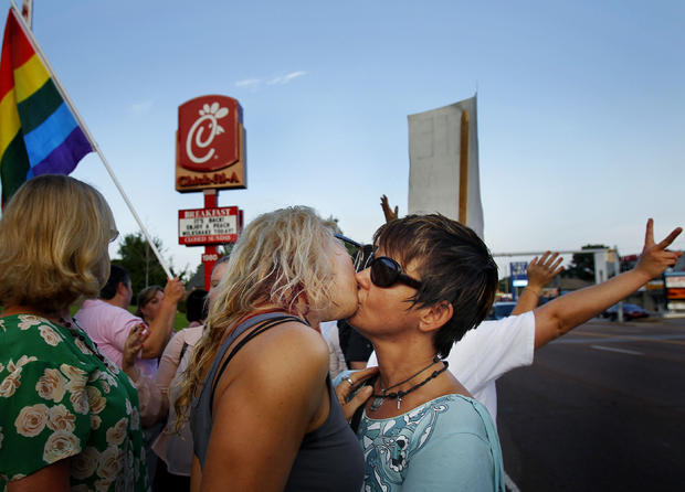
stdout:
<svg viewBox="0 0 685 492">
<path fill-rule="evenodd" d="M 70 457 L 72 491 L 149 490 L 136 389 L 84 331 L 0 318 L 0 490 Z"/>
</svg>

